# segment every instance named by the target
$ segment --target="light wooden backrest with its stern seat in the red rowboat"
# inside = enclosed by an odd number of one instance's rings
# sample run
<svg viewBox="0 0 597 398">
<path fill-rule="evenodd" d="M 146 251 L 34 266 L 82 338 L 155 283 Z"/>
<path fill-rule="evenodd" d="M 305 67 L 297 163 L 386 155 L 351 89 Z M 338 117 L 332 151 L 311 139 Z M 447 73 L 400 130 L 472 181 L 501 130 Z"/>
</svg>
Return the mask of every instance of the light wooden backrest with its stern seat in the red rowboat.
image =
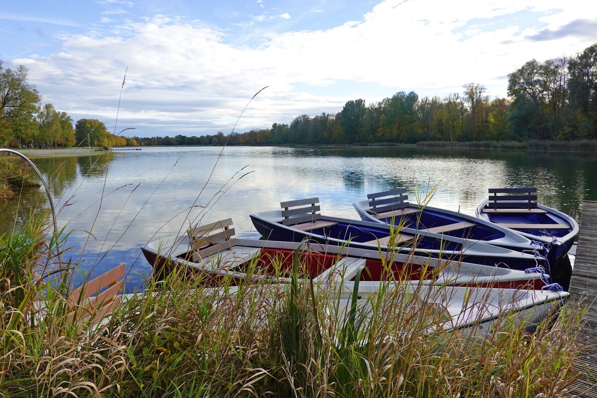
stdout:
<svg viewBox="0 0 597 398">
<path fill-rule="evenodd" d="M 226 218 L 189 229 L 193 263 L 229 270 L 259 256 L 259 248 L 235 246 L 235 230 L 231 226 L 232 218 Z"/>
</svg>

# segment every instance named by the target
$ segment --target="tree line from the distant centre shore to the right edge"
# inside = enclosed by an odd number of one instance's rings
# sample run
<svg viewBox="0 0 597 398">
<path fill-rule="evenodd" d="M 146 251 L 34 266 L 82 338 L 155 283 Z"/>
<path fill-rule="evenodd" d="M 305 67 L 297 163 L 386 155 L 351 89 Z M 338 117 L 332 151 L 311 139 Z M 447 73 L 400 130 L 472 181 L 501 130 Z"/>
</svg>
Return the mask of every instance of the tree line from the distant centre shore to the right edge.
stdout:
<svg viewBox="0 0 597 398">
<path fill-rule="evenodd" d="M 416 92 L 366 104 L 350 100 L 332 115 L 300 115 L 290 124 L 226 137 L 135 137 L 139 145 L 416 143 L 420 141 L 594 140 L 597 44 L 575 57 L 530 60 L 508 75 L 508 98 L 469 83 L 447 97 Z"/>
</svg>

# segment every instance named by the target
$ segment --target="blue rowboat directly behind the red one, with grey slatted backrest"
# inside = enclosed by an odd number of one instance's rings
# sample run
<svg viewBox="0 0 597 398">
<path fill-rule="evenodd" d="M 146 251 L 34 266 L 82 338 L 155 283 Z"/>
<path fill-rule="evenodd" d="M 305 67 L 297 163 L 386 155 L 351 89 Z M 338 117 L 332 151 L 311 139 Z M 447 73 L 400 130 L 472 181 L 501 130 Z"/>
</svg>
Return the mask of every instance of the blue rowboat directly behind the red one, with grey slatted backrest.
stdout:
<svg viewBox="0 0 597 398">
<path fill-rule="evenodd" d="M 496 245 L 381 223 L 319 214 L 319 199 L 282 202 L 281 210 L 251 214 L 257 231 L 266 239 L 350 246 L 370 250 L 388 248 L 402 254 L 466 261 L 525 270 L 546 266 L 540 252 L 522 253 Z"/>
</svg>

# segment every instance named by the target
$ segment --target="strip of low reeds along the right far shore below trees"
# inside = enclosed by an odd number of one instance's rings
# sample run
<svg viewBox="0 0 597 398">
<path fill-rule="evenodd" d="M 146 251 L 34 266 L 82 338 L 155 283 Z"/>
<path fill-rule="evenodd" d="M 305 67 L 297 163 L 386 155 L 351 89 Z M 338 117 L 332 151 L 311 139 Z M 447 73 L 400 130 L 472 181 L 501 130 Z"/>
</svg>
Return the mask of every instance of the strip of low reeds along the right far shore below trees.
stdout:
<svg viewBox="0 0 597 398">
<path fill-rule="evenodd" d="M 422 141 L 420 148 L 456 148 L 456 149 L 524 149 L 524 150 L 558 150 L 570 152 L 597 152 L 597 140 L 578 141 Z"/>
</svg>

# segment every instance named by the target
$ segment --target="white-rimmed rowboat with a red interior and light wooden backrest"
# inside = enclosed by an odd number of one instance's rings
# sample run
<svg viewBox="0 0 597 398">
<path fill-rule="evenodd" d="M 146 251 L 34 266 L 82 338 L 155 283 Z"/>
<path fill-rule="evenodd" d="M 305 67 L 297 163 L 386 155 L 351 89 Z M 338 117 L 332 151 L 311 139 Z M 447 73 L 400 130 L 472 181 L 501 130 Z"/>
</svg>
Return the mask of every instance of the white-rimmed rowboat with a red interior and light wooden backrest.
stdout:
<svg viewBox="0 0 597 398">
<path fill-rule="evenodd" d="M 513 289 L 540 289 L 547 284 L 548 276 L 541 269 L 525 272 L 308 241 L 240 239 L 231 226 L 230 218 L 196 226 L 183 235 L 149 242 L 141 250 L 154 274 L 162 276 L 180 266 L 201 274 L 213 286 L 224 278 L 233 284 L 244 279 L 287 283 L 295 260 L 301 264 L 303 278 L 341 286 L 347 292 L 356 279 L 364 292 L 376 291 L 383 282 Z"/>
</svg>

